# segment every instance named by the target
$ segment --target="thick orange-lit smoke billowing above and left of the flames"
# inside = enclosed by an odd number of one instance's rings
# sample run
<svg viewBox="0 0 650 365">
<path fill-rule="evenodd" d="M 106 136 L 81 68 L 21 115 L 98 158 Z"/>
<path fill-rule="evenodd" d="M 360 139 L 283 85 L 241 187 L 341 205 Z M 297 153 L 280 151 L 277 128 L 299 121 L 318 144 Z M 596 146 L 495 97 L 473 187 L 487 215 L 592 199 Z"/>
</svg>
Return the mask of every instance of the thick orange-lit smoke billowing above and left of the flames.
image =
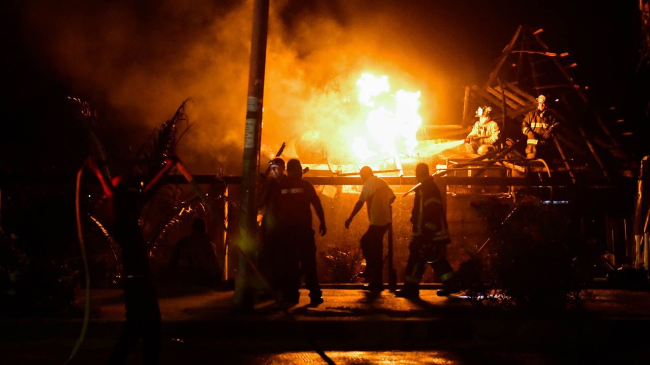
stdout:
<svg viewBox="0 0 650 365">
<path fill-rule="evenodd" d="M 346 125 L 363 71 L 389 75 L 393 90 L 421 90 L 424 123 L 458 123 L 461 86 L 471 78 L 460 65 L 471 62 L 454 56 L 454 36 L 396 18 L 388 1 L 343 4 L 271 1 L 263 155 L 313 129 L 330 139 L 358 132 Z M 109 129 L 127 132 L 133 148 L 189 97 L 195 124 L 180 157 L 194 173 L 240 173 L 252 1 L 21 6 L 26 42 L 71 94 L 112 110 Z"/>
</svg>

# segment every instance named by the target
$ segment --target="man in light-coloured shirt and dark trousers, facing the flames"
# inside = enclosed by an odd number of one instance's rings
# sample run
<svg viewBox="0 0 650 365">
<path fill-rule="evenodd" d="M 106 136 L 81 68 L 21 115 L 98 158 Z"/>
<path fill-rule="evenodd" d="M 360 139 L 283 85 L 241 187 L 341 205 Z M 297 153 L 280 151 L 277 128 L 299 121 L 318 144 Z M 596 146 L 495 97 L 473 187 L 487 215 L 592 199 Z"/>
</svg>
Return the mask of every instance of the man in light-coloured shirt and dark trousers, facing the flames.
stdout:
<svg viewBox="0 0 650 365">
<path fill-rule="evenodd" d="M 391 225 L 391 204 L 395 201 L 395 194 L 385 181 L 374 176 L 368 166 L 363 166 L 360 173 L 363 188 L 350 218 L 345 221 L 345 228 L 350 227 L 352 219 L 365 203 L 370 225 L 361 236 L 361 252 L 366 260 L 366 278 L 370 292 L 378 294 L 383 290 L 383 235 Z"/>
</svg>

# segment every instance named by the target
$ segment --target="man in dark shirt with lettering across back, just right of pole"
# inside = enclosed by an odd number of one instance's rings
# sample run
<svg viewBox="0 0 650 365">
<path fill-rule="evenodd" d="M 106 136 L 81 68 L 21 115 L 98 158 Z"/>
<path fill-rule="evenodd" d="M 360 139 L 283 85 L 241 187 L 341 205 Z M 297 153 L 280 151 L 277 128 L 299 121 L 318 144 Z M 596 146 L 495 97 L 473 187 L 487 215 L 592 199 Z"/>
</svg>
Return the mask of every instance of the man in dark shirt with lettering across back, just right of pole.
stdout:
<svg viewBox="0 0 650 365">
<path fill-rule="evenodd" d="M 287 162 L 287 177 L 278 182 L 272 195 L 278 201 L 278 219 L 273 230 L 273 242 L 277 247 L 274 263 L 278 268 L 278 286 L 283 301 L 298 303 L 300 278 L 305 276 L 309 289 L 310 305 L 323 303 L 316 271 L 316 242 L 311 227 L 311 207 L 320 221 L 318 231 L 327 233 L 325 214 L 314 186 L 302 179 L 300 161 Z"/>
</svg>

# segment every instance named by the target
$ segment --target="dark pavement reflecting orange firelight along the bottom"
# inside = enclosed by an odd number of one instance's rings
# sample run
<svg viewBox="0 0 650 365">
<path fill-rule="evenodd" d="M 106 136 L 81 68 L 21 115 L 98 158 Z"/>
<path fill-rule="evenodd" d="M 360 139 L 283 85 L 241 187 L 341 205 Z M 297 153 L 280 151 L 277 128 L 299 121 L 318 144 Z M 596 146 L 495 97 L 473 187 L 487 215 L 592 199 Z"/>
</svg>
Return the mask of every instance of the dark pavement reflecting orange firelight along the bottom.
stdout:
<svg viewBox="0 0 650 365">
<path fill-rule="evenodd" d="M 601 363 L 650 360 L 650 292 L 588 291 L 582 306 L 530 316 L 477 307 L 463 296 L 421 299 L 358 286 L 325 287 L 309 307 L 306 290 L 291 317 L 272 301 L 234 312 L 233 292 L 163 290 L 164 364 L 318 364 L 322 349 L 336 364 Z M 165 293 L 166 292 L 166 293 Z M 84 293 L 79 293 L 83 305 Z M 120 290 L 92 290 L 85 342 L 71 364 L 103 363 L 122 331 Z M 1 364 L 62 364 L 81 318 L 3 318 Z M 568 355 L 567 355 L 568 354 Z M 138 362 L 137 353 L 129 364 Z"/>
</svg>

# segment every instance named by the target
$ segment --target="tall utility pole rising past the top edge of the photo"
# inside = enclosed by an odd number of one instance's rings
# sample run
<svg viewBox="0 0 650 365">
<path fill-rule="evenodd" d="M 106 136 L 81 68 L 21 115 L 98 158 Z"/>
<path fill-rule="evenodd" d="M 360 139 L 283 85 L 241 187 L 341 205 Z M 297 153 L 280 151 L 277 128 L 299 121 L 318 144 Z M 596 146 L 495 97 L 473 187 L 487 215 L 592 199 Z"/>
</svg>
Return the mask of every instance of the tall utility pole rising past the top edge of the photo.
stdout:
<svg viewBox="0 0 650 365">
<path fill-rule="evenodd" d="M 253 33 L 250 44 L 248 99 L 246 101 L 246 129 L 244 132 L 244 160 L 242 164 L 242 209 L 239 221 L 239 259 L 235 278 L 235 308 L 252 310 L 252 268 L 248 258 L 255 252 L 257 207 L 255 183 L 259 170 L 259 149 L 262 140 L 262 105 L 264 99 L 264 71 L 266 64 L 266 32 L 268 29 L 269 0 L 255 0 L 253 5 Z"/>
</svg>

